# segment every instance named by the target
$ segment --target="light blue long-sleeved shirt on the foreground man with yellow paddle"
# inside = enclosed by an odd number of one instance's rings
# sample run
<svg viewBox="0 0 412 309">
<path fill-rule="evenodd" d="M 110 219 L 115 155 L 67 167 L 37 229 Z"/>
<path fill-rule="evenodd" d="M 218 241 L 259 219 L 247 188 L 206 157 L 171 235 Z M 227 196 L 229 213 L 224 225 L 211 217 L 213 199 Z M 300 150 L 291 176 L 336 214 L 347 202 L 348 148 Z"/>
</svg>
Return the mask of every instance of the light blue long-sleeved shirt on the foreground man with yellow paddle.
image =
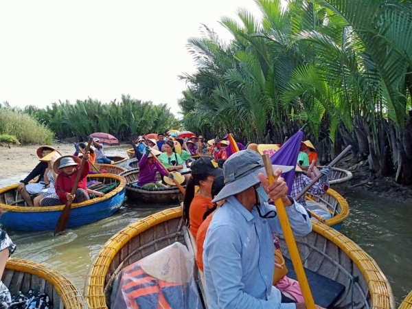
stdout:
<svg viewBox="0 0 412 309">
<path fill-rule="evenodd" d="M 261 203 L 262 214 L 276 210 Z M 296 236 L 312 231 L 308 213 L 295 202 L 286 207 Z M 302 214 L 305 215 L 302 216 Z M 209 308 L 282 308 L 281 294 L 272 286 L 275 255 L 271 231 L 282 233 L 279 218 L 260 218 L 248 211 L 235 196 L 215 212 L 203 244 L 203 265 Z"/>
</svg>

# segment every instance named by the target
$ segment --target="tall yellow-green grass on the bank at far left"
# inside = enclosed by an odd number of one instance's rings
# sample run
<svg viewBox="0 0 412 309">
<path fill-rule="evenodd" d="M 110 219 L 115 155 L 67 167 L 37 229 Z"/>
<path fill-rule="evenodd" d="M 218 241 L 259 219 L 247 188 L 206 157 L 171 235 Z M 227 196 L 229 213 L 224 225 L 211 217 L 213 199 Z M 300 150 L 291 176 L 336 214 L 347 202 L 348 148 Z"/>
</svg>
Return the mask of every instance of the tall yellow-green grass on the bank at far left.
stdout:
<svg viewBox="0 0 412 309">
<path fill-rule="evenodd" d="M 11 108 L 0 108 L 0 136 L 7 139 L 14 137 L 23 145 L 52 144 L 54 133 L 30 115 Z"/>
</svg>

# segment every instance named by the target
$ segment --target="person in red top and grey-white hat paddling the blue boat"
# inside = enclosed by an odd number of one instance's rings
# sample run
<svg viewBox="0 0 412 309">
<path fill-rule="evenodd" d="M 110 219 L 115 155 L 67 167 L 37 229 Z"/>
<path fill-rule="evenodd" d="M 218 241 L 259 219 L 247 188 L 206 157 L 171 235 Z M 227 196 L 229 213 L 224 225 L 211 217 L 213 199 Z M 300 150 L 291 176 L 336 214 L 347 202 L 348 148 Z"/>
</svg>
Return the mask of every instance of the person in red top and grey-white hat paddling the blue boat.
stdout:
<svg viewBox="0 0 412 309">
<path fill-rule="evenodd" d="M 43 198 L 41 201 L 42 206 L 62 205 L 67 204 L 67 201 L 81 203 L 89 200 L 89 194 L 87 193 L 87 175 L 90 172 L 89 152 L 86 152 L 83 157 L 87 161 L 84 163 L 76 193 L 73 195 L 71 195 L 71 190 L 79 173 L 78 166 L 82 163 L 82 160 L 74 156 L 63 156 L 54 162 L 53 170 L 58 174 L 54 184 L 56 194 Z"/>
</svg>

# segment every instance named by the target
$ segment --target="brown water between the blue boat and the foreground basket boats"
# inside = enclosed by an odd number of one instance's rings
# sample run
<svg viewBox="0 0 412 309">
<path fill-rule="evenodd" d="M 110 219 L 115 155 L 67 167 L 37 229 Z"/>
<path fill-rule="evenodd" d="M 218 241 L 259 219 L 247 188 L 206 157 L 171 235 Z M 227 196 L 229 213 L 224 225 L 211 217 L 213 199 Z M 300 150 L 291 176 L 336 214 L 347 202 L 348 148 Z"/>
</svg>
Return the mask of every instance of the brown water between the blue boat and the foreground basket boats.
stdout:
<svg viewBox="0 0 412 309">
<path fill-rule="evenodd" d="M 89 266 L 102 245 L 115 233 L 131 223 L 168 207 L 159 208 L 125 207 L 113 216 L 67 229 L 67 234 L 54 237 L 53 231 L 16 231 L 8 229 L 17 249 L 14 258 L 32 260 L 56 269 L 78 288 L 83 289 Z"/>
</svg>

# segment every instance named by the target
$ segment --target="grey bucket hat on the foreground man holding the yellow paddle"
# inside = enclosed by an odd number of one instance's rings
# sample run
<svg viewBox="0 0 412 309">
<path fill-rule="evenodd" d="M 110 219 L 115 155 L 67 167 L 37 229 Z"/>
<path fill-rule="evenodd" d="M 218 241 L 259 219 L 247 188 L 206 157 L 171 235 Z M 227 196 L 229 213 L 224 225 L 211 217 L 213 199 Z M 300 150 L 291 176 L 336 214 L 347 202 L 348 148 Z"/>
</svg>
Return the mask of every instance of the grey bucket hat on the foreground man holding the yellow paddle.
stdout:
<svg viewBox="0 0 412 309">
<path fill-rule="evenodd" d="M 282 173 L 290 172 L 295 166 L 272 165 L 273 170 L 282 169 Z M 235 152 L 223 164 L 225 187 L 211 203 L 216 203 L 224 198 L 243 192 L 260 183 L 258 174 L 266 174 L 262 157 L 254 150 Z"/>
</svg>

